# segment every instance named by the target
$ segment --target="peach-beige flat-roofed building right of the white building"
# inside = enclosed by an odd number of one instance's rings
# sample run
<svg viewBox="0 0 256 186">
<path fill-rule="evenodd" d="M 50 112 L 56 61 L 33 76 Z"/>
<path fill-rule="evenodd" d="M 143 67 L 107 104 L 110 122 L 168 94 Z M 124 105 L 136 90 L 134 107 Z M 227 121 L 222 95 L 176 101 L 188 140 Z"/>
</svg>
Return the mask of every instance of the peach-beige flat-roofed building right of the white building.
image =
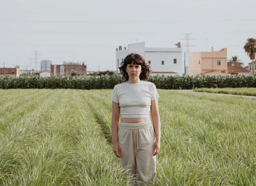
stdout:
<svg viewBox="0 0 256 186">
<path fill-rule="evenodd" d="M 227 48 L 212 52 L 193 52 L 189 54 L 189 76 L 228 75 Z"/>
</svg>

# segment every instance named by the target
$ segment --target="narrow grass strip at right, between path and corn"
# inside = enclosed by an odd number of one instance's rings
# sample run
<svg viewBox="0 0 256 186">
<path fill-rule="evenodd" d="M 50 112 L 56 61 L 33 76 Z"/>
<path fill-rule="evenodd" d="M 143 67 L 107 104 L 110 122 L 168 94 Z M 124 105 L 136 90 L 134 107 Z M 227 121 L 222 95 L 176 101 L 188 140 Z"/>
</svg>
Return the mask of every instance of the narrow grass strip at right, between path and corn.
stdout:
<svg viewBox="0 0 256 186">
<path fill-rule="evenodd" d="M 195 88 L 195 92 L 256 96 L 256 88 Z"/>
</svg>

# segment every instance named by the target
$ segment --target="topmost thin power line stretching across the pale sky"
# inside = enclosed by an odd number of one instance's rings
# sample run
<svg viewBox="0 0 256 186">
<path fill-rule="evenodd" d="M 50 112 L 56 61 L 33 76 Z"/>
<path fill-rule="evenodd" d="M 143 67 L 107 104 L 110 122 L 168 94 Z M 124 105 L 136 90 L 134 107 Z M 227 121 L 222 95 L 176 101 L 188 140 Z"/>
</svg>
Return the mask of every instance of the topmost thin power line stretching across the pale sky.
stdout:
<svg viewBox="0 0 256 186">
<path fill-rule="evenodd" d="M 236 20 L 181 20 L 181 21 L 42 21 L 42 20 L 0 20 L 2 22 L 41 22 L 41 23 L 169 23 L 169 22 L 215 22 L 215 21 L 256 21 L 256 19 Z"/>
</svg>

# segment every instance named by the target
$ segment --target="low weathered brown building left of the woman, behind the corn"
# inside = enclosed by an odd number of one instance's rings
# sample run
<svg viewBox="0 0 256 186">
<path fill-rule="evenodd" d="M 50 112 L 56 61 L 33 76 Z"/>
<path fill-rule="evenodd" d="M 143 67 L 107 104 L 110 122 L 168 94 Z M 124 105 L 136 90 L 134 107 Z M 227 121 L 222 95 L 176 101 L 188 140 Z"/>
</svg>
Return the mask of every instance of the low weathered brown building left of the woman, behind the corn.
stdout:
<svg viewBox="0 0 256 186">
<path fill-rule="evenodd" d="M 71 76 L 72 73 L 86 74 L 86 64 L 51 64 L 51 77 L 52 76 Z"/>
</svg>

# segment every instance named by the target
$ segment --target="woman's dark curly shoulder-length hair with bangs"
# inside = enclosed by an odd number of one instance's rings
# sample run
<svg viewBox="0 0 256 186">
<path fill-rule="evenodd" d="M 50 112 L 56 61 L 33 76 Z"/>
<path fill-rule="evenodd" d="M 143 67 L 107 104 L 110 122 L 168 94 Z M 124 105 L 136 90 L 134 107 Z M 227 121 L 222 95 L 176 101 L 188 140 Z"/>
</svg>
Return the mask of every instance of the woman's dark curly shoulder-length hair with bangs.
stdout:
<svg viewBox="0 0 256 186">
<path fill-rule="evenodd" d="M 128 64 L 138 64 L 141 65 L 141 74 L 139 75 L 140 80 L 148 81 L 148 76 L 152 70 L 150 70 L 150 65 L 145 62 L 145 59 L 136 53 L 130 53 L 124 58 L 124 61 L 121 62 L 121 67 L 118 67 L 120 70 L 120 74 L 122 74 L 123 81 L 128 81 L 129 76 L 127 71 L 125 70 Z"/>
</svg>

